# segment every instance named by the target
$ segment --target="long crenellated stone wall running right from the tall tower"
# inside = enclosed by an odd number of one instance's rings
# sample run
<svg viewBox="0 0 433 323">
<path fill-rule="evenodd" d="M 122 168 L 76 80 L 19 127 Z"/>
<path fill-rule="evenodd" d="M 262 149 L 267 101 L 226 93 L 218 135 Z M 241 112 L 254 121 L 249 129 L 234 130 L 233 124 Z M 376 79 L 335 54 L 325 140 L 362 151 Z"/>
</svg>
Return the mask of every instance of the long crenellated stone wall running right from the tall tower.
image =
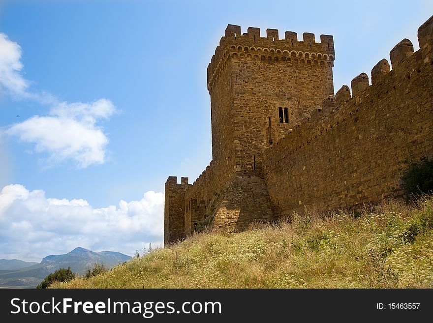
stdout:
<svg viewBox="0 0 433 323">
<path fill-rule="evenodd" d="M 403 194 L 401 162 L 409 153 L 433 156 L 432 23 L 418 31 L 419 51 L 412 55 L 402 41 L 391 51 L 392 71 L 381 60 L 372 86 L 359 75 L 352 98 L 346 101 L 343 87 L 337 100 L 324 100 L 320 111 L 266 149 L 264 176 L 275 215 L 304 206 L 358 208 Z"/>
</svg>

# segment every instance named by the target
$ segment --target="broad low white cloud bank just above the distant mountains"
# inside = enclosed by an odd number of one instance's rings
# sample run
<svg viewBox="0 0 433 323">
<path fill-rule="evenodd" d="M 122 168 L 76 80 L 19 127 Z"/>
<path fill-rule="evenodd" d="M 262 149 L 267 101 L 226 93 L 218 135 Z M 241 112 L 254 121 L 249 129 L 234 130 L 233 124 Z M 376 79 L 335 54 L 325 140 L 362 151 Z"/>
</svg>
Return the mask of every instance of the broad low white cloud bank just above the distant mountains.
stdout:
<svg viewBox="0 0 433 323">
<path fill-rule="evenodd" d="M 164 195 L 94 208 L 87 201 L 46 198 L 42 190 L 7 185 L 0 191 L 0 259 L 40 261 L 77 246 L 133 255 L 162 245 Z"/>
</svg>

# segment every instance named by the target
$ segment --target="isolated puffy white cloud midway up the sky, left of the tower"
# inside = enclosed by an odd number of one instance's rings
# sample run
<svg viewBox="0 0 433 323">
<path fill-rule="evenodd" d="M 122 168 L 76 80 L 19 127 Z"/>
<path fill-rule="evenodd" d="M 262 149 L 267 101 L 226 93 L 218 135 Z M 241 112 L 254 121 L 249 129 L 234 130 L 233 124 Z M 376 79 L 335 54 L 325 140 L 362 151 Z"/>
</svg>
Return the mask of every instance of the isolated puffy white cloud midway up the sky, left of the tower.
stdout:
<svg viewBox="0 0 433 323">
<path fill-rule="evenodd" d="M 74 160 L 79 168 L 102 164 L 108 138 L 97 121 L 115 112 L 113 103 L 100 99 L 93 103 L 59 103 L 49 116 L 33 116 L 5 130 L 23 142 L 35 144 L 35 151 L 46 152 L 49 164 Z"/>
</svg>

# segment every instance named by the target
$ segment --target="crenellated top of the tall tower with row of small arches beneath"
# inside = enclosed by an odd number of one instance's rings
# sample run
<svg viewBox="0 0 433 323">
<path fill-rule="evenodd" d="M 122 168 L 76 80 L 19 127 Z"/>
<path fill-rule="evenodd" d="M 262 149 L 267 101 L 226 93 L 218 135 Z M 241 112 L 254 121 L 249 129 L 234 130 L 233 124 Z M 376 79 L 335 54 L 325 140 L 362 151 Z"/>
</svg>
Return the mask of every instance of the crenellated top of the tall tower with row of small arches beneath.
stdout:
<svg viewBox="0 0 433 323">
<path fill-rule="evenodd" d="M 259 28 L 248 27 L 247 32 L 241 34 L 240 26 L 228 25 L 208 65 L 208 89 L 213 87 L 220 69 L 227 65 L 230 58 L 311 66 L 332 63 L 335 59 L 333 36 L 320 35 L 320 41 L 316 43 L 314 34 L 309 32 L 304 32 L 303 40 L 298 41 L 298 36 L 293 31 L 286 31 L 285 39 L 279 39 L 278 29 L 266 29 L 266 37 L 260 37 Z"/>
</svg>

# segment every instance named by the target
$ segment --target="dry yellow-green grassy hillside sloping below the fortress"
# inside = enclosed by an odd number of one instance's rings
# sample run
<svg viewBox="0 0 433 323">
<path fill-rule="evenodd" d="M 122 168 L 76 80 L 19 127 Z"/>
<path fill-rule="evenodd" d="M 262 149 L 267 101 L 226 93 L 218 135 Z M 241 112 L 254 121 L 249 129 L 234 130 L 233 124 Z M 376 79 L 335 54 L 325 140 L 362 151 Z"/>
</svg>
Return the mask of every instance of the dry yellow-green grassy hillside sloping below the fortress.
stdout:
<svg viewBox="0 0 433 323">
<path fill-rule="evenodd" d="M 56 288 L 432 288 L 433 197 L 198 234 Z"/>
</svg>

